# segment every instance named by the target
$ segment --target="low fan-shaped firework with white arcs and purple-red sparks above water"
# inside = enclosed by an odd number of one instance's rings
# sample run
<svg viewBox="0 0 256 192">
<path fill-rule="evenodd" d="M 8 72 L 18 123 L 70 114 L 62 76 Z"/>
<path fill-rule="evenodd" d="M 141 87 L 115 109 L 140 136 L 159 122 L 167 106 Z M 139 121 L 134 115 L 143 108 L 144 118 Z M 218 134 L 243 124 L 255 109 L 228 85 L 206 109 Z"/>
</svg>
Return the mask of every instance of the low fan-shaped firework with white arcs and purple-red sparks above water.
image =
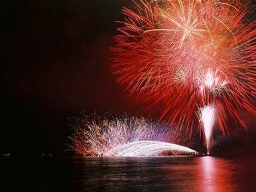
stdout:
<svg viewBox="0 0 256 192">
<path fill-rule="evenodd" d="M 186 139 L 175 136 L 168 124 L 149 122 L 144 118 L 106 119 L 92 115 L 71 123 L 74 135 L 70 146 L 82 156 L 159 156 L 164 154 L 197 155 L 198 152 L 173 144 Z"/>
</svg>

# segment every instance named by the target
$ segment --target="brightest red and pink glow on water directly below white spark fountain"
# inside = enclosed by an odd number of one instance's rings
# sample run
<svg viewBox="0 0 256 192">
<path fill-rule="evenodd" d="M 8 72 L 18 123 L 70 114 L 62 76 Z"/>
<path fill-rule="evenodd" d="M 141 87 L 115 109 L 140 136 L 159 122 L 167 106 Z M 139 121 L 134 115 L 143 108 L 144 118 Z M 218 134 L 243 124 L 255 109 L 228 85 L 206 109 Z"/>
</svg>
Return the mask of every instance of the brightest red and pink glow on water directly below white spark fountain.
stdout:
<svg viewBox="0 0 256 192">
<path fill-rule="evenodd" d="M 237 191 L 237 185 L 232 181 L 234 175 L 227 160 L 206 156 L 198 158 L 198 188 L 197 191 L 228 192 Z M 239 190 L 238 190 L 239 191 Z"/>
</svg>

